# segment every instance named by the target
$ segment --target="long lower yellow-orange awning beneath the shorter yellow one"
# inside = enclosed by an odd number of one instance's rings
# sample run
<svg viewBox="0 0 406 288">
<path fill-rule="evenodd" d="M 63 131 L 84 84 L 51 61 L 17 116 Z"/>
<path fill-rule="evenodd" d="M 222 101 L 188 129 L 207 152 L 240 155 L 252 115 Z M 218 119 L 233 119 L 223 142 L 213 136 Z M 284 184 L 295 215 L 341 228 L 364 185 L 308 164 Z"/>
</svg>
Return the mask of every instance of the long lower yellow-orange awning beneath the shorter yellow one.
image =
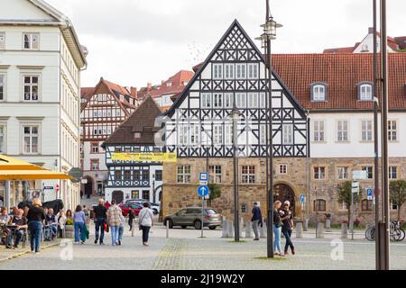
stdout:
<svg viewBox="0 0 406 288">
<path fill-rule="evenodd" d="M 51 170 L 1 170 L 0 180 L 54 180 L 69 179 L 72 177 L 64 173 Z"/>
</svg>

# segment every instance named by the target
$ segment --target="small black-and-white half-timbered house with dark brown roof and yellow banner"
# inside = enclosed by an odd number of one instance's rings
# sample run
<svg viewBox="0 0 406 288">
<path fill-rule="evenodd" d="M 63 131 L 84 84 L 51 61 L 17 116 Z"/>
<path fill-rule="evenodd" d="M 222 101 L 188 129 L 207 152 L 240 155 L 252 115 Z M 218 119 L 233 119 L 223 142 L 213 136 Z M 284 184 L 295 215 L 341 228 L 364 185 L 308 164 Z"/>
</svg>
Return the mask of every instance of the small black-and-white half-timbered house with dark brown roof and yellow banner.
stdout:
<svg viewBox="0 0 406 288">
<path fill-rule="evenodd" d="M 150 202 L 161 202 L 161 162 L 121 161 L 113 158 L 114 153 L 162 152 L 163 146 L 155 145 L 155 133 L 160 129 L 156 127 L 155 120 L 159 115 L 159 105 L 148 97 L 103 143 L 108 168 L 107 201 L 147 199 Z"/>
</svg>

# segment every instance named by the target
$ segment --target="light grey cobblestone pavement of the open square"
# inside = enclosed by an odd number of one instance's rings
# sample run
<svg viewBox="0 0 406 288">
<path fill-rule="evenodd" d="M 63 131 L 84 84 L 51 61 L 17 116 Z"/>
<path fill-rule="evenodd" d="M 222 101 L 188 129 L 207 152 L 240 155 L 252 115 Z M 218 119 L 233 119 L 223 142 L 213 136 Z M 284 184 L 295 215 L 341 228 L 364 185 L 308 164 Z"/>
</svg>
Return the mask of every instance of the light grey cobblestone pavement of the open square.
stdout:
<svg viewBox="0 0 406 288">
<path fill-rule="evenodd" d="M 246 239 L 234 243 L 232 238 L 220 238 L 221 231 L 205 230 L 205 238 L 199 238 L 195 229 L 171 229 L 170 237 L 165 238 L 162 227 L 152 229 L 150 247 L 141 244 L 140 231 L 131 238 L 126 231 L 123 246 L 99 246 L 92 242 L 86 245 L 51 247 L 41 255 L 27 255 L 0 263 L 0 269 L 158 269 L 158 270 L 226 270 L 226 269 L 374 269 L 374 243 L 366 240 L 349 239 L 340 242 L 334 236 L 315 239 L 305 235 L 293 239 L 297 255 L 268 260 L 266 240 L 259 242 Z M 110 243 L 106 234 L 106 244 Z M 244 238 L 243 238 L 244 239 Z M 332 241 L 343 244 L 343 259 Z M 284 239 L 281 240 L 282 245 Z M 333 242 L 336 243 L 336 242 Z M 337 244 L 336 244 L 337 245 Z M 72 259 L 69 260 L 70 252 Z M 391 245 L 392 269 L 406 269 L 406 243 Z"/>
</svg>

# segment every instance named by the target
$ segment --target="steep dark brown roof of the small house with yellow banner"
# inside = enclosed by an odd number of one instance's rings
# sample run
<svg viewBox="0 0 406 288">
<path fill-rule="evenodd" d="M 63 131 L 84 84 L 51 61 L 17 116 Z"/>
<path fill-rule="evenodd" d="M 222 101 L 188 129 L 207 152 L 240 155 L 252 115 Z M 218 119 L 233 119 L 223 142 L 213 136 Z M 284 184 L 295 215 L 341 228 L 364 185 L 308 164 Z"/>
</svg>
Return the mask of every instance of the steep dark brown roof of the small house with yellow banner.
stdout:
<svg viewBox="0 0 406 288">
<path fill-rule="evenodd" d="M 161 115 L 161 109 L 151 98 L 145 101 L 124 121 L 103 144 L 154 144 L 155 119 Z M 134 139 L 134 132 L 140 132 L 141 138 Z"/>
</svg>

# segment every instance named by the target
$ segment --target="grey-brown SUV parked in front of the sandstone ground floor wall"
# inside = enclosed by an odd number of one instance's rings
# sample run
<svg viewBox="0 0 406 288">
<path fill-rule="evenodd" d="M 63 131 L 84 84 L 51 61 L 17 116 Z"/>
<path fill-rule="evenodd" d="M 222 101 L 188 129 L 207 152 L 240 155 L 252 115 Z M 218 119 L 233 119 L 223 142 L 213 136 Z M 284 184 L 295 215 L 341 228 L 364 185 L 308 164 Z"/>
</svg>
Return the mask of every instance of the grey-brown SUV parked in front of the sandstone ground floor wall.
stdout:
<svg viewBox="0 0 406 288">
<path fill-rule="evenodd" d="M 186 229 L 188 226 L 192 226 L 195 229 L 201 229 L 201 207 L 188 207 L 177 211 L 164 218 L 163 223 L 165 226 L 167 222 L 170 228 L 180 226 Z M 216 229 L 217 226 L 221 225 L 221 215 L 212 208 L 205 208 L 203 225 L 212 230 Z"/>
</svg>

